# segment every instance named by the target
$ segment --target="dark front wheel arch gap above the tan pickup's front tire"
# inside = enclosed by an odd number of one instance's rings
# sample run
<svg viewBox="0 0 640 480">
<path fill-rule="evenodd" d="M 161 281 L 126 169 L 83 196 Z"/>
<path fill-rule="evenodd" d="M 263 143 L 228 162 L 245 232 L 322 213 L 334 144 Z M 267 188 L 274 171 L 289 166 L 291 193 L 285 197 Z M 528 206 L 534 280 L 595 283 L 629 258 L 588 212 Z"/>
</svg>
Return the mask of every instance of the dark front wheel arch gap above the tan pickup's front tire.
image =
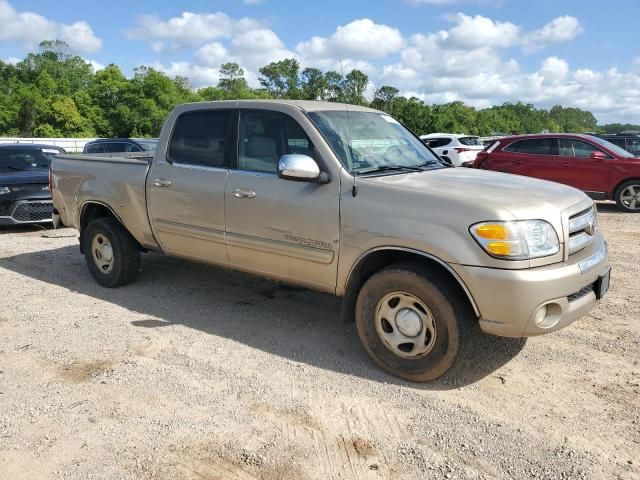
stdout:
<svg viewBox="0 0 640 480">
<path fill-rule="evenodd" d="M 363 253 L 349 271 L 342 299 L 341 318 L 343 323 L 351 323 L 355 320 L 358 292 L 367 279 L 384 267 L 402 262 L 417 262 L 445 274 L 464 293 L 476 317 L 480 317 L 480 310 L 469 288 L 446 262 L 420 250 L 406 247 L 377 247 Z"/>
</svg>

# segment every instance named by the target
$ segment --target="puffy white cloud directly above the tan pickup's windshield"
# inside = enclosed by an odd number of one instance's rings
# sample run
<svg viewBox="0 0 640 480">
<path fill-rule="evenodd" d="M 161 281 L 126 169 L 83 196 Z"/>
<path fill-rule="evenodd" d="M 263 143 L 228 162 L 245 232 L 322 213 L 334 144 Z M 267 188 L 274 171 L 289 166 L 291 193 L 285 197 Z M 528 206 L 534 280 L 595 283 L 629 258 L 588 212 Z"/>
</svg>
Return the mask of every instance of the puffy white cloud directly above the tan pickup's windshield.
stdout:
<svg viewBox="0 0 640 480">
<path fill-rule="evenodd" d="M 368 18 L 339 26 L 330 37 L 312 37 L 300 42 L 297 52 L 309 62 L 341 58 L 383 58 L 403 46 L 402 34 L 396 28 L 374 23 Z"/>
</svg>

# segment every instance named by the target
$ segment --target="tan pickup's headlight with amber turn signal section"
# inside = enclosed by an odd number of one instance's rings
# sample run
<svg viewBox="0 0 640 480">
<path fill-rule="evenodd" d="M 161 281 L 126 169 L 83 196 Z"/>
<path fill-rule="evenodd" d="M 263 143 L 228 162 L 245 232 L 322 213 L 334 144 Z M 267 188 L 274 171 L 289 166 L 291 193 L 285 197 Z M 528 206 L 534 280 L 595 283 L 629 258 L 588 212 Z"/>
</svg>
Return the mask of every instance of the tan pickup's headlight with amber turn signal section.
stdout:
<svg viewBox="0 0 640 480">
<path fill-rule="evenodd" d="M 544 220 L 477 223 L 469 231 L 485 252 L 505 260 L 548 257 L 560 251 L 558 234 Z"/>
</svg>

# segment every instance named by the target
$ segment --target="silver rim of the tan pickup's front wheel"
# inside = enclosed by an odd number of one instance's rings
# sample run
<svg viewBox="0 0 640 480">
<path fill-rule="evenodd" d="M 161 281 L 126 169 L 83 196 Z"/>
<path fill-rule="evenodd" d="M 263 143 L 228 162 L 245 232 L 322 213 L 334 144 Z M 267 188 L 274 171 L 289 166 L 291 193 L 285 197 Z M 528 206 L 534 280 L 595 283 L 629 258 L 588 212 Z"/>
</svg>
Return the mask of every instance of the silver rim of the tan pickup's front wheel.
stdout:
<svg viewBox="0 0 640 480">
<path fill-rule="evenodd" d="M 403 358 L 427 355 L 436 341 L 436 323 L 429 308 L 415 295 L 401 291 L 378 302 L 376 332 L 389 350 Z"/>
</svg>

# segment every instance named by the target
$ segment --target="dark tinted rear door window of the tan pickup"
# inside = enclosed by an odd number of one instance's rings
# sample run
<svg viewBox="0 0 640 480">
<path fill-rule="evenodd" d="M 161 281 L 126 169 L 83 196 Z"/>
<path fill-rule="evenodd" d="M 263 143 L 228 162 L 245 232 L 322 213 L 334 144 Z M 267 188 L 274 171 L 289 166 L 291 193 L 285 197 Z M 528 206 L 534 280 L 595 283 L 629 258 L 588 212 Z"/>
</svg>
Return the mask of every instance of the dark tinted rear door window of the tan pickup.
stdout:
<svg viewBox="0 0 640 480">
<path fill-rule="evenodd" d="M 226 110 L 199 110 L 180 115 L 169 143 L 169 161 L 204 167 L 227 167 L 229 118 Z"/>
</svg>

